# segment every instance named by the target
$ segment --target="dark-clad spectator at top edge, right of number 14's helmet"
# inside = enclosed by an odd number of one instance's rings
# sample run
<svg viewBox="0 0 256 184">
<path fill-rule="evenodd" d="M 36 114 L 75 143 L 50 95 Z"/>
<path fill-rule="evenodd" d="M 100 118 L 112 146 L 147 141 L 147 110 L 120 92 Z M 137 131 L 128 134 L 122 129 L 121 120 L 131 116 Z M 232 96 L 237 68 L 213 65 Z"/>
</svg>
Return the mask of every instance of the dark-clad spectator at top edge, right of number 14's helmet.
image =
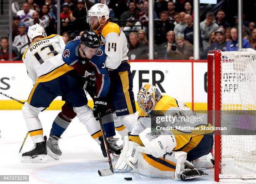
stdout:
<svg viewBox="0 0 256 184">
<path fill-rule="evenodd" d="M 136 9 L 136 4 L 133 1 L 129 2 L 128 10 L 121 15 L 121 20 L 135 20 L 135 17 L 138 14 L 138 10 Z M 120 22 L 120 27 L 123 30 L 131 30 L 131 26 L 133 26 L 135 22 Z M 125 27 L 128 26 L 128 27 Z M 125 27 L 125 28 L 124 28 Z"/>
</svg>

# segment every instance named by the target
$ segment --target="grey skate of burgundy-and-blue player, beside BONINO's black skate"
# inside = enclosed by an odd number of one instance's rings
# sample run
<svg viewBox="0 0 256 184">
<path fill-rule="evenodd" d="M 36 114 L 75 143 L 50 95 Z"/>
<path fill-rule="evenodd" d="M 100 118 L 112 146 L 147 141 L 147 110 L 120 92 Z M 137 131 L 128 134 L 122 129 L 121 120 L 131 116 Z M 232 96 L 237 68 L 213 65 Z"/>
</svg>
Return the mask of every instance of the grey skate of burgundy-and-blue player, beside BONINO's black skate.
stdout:
<svg viewBox="0 0 256 184">
<path fill-rule="evenodd" d="M 61 138 L 50 135 L 48 141 L 46 142 L 47 153 L 55 160 L 59 160 L 59 157 L 62 154 L 61 150 L 59 149 L 59 139 Z"/>
</svg>

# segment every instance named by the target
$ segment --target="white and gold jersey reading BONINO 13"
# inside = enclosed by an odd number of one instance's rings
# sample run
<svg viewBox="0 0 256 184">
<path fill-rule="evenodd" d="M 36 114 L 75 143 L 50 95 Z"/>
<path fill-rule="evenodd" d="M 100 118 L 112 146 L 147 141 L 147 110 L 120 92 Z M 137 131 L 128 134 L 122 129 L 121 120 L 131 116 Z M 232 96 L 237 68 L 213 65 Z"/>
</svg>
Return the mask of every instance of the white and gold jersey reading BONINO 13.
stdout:
<svg viewBox="0 0 256 184">
<path fill-rule="evenodd" d="M 62 60 L 64 48 L 60 35 L 50 35 L 27 48 L 22 60 L 33 83 L 51 81 L 74 69 Z"/>
</svg>

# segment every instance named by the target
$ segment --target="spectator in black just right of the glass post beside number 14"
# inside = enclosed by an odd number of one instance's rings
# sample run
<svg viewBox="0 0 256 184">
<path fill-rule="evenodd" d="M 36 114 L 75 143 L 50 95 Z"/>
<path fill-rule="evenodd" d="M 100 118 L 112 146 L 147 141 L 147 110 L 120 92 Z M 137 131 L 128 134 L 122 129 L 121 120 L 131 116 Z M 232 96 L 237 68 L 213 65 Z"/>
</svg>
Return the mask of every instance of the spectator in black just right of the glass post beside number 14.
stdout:
<svg viewBox="0 0 256 184">
<path fill-rule="evenodd" d="M 156 44 L 161 44 L 166 41 L 166 33 L 169 30 L 174 30 L 174 24 L 169 22 L 169 14 L 167 11 L 163 11 L 160 14 L 161 21 L 156 22 L 155 39 Z"/>
</svg>

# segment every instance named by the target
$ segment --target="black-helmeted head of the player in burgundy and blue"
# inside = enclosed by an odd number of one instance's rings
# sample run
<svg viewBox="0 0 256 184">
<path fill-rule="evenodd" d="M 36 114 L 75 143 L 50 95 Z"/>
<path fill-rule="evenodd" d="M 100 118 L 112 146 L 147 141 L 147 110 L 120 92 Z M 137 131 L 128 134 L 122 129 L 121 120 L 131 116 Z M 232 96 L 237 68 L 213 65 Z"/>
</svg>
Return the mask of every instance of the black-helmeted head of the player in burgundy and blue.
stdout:
<svg viewBox="0 0 256 184">
<path fill-rule="evenodd" d="M 80 37 L 80 47 L 86 58 L 91 59 L 100 51 L 100 39 L 94 31 L 84 31 Z"/>
</svg>

